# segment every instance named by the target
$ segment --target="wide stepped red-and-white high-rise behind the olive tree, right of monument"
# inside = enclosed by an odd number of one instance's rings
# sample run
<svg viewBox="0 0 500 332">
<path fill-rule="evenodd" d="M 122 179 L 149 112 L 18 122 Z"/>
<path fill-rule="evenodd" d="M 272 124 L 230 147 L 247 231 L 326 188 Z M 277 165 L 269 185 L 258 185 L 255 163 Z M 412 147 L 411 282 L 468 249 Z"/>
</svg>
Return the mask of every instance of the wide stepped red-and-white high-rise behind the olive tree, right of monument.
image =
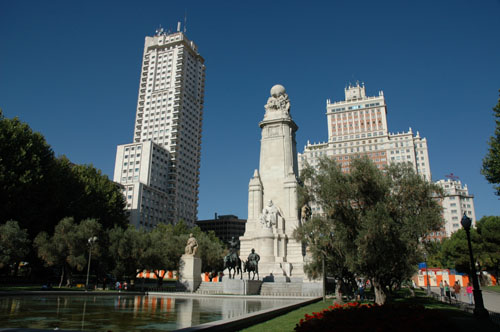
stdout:
<svg viewBox="0 0 500 332">
<path fill-rule="evenodd" d="M 379 168 L 391 163 L 409 163 L 416 172 L 431 181 L 427 140 L 419 132 L 390 133 L 387 105 L 383 91 L 378 96 L 366 95 L 364 85 L 349 85 L 345 100 L 326 102 L 328 141 L 311 144 L 298 154 L 299 170 L 307 162 L 316 165 L 322 156 L 335 159 L 344 172 L 357 156 L 368 156 Z M 312 207 L 319 213 L 319 207 Z"/>
</svg>

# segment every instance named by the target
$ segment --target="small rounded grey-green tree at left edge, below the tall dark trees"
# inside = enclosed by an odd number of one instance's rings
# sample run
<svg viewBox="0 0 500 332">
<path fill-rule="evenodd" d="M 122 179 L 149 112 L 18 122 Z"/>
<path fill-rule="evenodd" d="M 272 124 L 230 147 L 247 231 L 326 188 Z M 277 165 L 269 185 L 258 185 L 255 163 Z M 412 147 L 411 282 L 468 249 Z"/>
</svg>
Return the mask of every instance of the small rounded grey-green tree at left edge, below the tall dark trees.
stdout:
<svg viewBox="0 0 500 332">
<path fill-rule="evenodd" d="M 7 221 L 0 225 L 0 269 L 13 267 L 17 275 L 19 263 L 30 251 L 28 232 L 21 229 L 17 221 Z"/>
</svg>

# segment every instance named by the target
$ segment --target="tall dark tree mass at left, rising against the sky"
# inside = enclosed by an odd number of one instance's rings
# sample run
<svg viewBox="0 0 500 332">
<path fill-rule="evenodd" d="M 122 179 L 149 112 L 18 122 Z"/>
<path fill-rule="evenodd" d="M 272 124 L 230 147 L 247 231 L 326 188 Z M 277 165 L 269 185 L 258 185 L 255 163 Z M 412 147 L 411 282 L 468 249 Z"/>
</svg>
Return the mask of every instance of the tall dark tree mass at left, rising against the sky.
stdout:
<svg viewBox="0 0 500 332">
<path fill-rule="evenodd" d="M 127 224 L 120 188 L 92 165 L 54 157 L 44 137 L 0 110 L 0 211 L 33 239 L 52 233 L 57 221 L 98 219 L 104 228 Z"/>
</svg>

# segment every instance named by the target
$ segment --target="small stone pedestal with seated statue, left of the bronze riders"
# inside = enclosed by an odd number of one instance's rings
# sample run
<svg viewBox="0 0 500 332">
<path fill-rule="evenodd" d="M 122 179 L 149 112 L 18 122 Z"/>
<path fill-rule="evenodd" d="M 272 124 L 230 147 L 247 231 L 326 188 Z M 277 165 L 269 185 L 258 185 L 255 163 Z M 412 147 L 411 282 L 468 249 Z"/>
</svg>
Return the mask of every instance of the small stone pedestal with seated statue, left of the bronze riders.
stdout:
<svg viewBox="0 0 500 332">
<path fill-rule="evenodd" d="M 196 257 L 198 242 L 193 234 L 189 234 L 189 239 L 181 256 L 179 272 L 180 283 L 190 292 L 194 292 L 201 284 L 201 259 Z"/>
</svg>

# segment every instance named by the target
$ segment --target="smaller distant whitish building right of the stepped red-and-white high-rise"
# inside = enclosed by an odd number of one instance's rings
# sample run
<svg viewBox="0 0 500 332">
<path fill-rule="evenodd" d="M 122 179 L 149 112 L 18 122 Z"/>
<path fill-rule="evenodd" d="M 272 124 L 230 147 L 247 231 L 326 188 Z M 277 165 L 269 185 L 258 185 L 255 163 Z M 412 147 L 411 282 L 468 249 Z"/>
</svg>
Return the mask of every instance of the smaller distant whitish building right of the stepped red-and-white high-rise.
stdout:
<svg viewBox="0 0 500 332">
<path fill-rule="evenodd" d="M 472 219 L 472 226 L 475 226 L 474 195 L 469 194 L 467 185 L 462 185 L 458 178 L 439 180 L 436 184 L 444 190 L 442 206 L 445 236 L 449 237 L 462 228 L 460 221 L 464 213 Z"/>
</svg>

